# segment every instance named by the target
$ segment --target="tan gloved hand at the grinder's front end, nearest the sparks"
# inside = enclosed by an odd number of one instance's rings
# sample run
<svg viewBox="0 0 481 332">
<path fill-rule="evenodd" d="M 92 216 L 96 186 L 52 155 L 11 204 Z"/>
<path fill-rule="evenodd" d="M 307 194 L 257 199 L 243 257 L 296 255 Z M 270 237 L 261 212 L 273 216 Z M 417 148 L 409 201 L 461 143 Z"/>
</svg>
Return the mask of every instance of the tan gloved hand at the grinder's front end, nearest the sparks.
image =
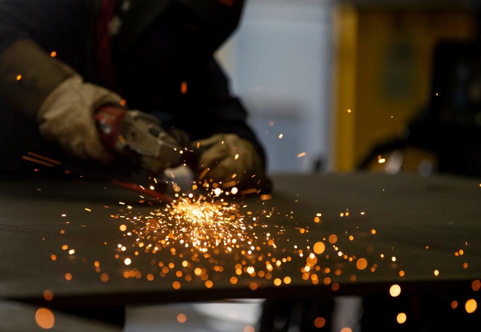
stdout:
<svg viewBox="0 0 481 332">
<path fill-rule="evenodd" d="M 235 134 L 215 134 L 194 141 L 193 145 L 197 143 L 200 149 L 205 148 L 198 160 L 199 173 L 209 168 L 205 177 L 214 182 L 236 180 L 242 183 L 253 175 L 264 175 L 262 159 L 247 139 Z"/>
</svg>

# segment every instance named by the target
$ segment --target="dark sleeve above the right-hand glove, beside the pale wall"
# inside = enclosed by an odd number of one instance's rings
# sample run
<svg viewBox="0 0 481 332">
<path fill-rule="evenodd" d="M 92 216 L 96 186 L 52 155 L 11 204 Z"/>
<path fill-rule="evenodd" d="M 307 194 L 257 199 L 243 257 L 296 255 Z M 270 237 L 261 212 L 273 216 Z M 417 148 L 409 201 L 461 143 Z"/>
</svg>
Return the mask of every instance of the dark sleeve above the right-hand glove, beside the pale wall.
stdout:
<svg viewBox="0 0 481 332">
<path fill-rule="evenodd" d="M 264 148 L 254 131 L 247 124 L 248 113 L 238 98 L 233 97 L 228 88 L 228 80 L 217 62 L 212 58 L 203 75 L 199 78 L 199 90 L 203 95 L 198 96 L 200 107 L 194 105 L 192 110 L 200 108 L 200 112 L 192 114 L 193 121 L 188 131 L 192 139 L 206 138 L 216 133 L 234 133 L 249 140 L 266 165 Z"/>
</svg>

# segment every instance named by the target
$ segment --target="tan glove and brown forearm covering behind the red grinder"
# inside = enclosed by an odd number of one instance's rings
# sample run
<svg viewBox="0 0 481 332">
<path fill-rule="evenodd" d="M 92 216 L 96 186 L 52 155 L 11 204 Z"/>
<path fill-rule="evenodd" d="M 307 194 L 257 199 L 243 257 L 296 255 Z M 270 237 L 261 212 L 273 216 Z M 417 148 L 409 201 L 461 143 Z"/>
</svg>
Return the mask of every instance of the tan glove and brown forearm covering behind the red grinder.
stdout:
<svg viewBox="0 0 481 332">
<path fill-rule="evenodd" d="M 71 154 L 109 161 L 93 112 L 119 105 L 113 92 L 84 83 L 75 70 L 30 39 L 18 39 L 0 52 L 0 99 L 39 123 L 40 133 Z"/>
</svg>

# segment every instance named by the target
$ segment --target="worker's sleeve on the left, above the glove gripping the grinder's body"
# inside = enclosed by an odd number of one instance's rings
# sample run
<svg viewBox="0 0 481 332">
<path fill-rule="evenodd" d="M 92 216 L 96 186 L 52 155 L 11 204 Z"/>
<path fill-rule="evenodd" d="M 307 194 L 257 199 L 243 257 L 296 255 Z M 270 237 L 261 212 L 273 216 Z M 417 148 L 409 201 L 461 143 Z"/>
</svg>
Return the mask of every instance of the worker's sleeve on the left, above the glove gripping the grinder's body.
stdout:
<svg viewBox="0 0 481 332">
<path fill-rule="evenodd" d="M 29 118 L 74 71 L 51 51 L 65 55 L 82 33 L 86 1 L 0 1 L 0 99 Z"/>
</svg>

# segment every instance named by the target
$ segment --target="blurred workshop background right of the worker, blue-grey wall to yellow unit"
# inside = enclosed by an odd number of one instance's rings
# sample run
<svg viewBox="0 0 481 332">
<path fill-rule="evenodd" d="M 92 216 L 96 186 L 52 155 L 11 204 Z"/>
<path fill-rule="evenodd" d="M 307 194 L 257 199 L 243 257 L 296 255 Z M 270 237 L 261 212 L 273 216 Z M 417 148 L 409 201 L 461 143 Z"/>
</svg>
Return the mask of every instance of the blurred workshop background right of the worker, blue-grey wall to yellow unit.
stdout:
<svg viewBox="0 0 481 332">
<path fill-rule="evenodd" d="M 271 172 L 479 177 L 478 8 L 251 0 L 217 58 Z"/>
</svg>

